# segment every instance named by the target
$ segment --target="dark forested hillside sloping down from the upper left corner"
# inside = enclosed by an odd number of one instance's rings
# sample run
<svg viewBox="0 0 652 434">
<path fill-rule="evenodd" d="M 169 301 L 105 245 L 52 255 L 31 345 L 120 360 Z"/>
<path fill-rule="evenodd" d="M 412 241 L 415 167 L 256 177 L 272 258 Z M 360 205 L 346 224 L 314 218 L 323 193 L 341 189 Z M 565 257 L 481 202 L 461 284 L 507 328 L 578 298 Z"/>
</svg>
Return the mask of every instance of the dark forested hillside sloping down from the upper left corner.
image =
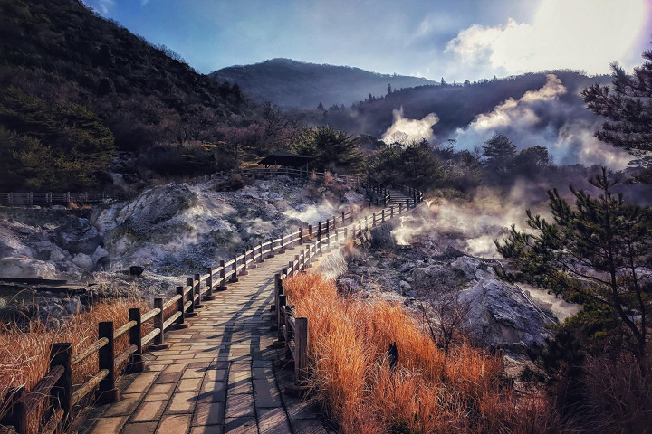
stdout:
<svg viewBox="0 0 652 434">
<path fill-rule="evenodd" d="M 0 189 L 110 184 L 117 151 L 137 177 L 206 171 L 215 149 L 191 145 L 249 118 L 237 85 L 77 0 L 0 1 Z"/>
</svg>

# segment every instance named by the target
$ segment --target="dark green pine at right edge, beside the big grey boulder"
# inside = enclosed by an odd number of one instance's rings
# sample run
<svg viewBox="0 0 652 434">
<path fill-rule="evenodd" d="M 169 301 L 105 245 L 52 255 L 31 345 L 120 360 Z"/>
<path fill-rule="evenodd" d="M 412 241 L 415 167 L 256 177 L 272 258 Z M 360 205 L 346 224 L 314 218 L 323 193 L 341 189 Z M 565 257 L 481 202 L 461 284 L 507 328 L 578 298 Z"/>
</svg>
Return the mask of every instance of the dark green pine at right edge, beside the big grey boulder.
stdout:
<svg viewBox="0 0 652 434">
<path fill-rule="evenodd" d="M 618 181 L 607 170 L 590 179 L 600 195 L 577 191 L 573 208 L 557 190 L 548 192 L 554 222 L 532 216 L 528 225 L 536 233 L 519 232 L 512 227 L 498 251 L 512 259 L 520 280 L 532 280 L 575 301 L 598 304 L 625 335 L 633 353 L 643 366 L 647 346 L 647 313 L 652 308 L 652 209 L 625 203 L 614 195 Z"/>
</svg>

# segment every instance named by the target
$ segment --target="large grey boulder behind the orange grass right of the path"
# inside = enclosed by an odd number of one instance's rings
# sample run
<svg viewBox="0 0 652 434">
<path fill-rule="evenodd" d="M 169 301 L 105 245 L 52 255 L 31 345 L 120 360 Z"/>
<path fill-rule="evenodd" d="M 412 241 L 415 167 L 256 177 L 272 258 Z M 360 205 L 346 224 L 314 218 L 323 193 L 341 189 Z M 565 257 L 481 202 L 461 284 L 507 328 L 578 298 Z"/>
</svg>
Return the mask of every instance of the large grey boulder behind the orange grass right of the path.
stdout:
<svg viewBox="0 0 652 434">
<path fill-rule="evenodd" d="M 552 337 L 546 325 L 556 321 L 517 286 L 481 278 L 460 291 L 458 299 L 469 307 L 467 329 L 484 344 L 518 351 Z"/>
</svg>

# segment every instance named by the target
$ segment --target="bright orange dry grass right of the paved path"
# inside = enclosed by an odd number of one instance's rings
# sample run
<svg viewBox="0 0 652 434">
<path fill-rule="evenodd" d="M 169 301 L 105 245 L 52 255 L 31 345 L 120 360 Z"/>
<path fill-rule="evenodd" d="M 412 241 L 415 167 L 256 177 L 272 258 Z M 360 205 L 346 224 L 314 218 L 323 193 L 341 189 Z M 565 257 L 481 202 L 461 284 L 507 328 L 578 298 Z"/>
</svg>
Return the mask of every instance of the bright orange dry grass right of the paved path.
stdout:
<svg viewBox="0 0 652 434">
<path fill-rule="evenodd" d="M 445 361 L 400 306 L 340 297 L 319 275 L 290 278 L 284 287 L 297 316 L 309 318 L 312 392 L 341 432 L 523 430 L 514 415 L 524 411 L 515 409 L 532 403 L 501 392 L 499 358 L 462 344 Z M 398 364 L 392 370 L 386 351 L 393 342 Z"/>
</svg>

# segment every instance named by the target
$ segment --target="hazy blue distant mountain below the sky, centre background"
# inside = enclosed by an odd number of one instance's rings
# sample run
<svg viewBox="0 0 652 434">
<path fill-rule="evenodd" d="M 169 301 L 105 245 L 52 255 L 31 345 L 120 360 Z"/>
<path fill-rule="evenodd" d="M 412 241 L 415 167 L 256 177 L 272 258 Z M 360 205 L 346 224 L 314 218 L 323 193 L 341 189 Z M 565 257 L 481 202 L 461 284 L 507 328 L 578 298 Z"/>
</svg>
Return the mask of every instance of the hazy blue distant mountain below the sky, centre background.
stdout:
<svg viewBox="0 0 652 434">
<path fill-rule="evenodd" d="M 405 75 L 379 74 L 350 66 L 272 59 L 253 65 L 238 65 L 211 72 L 216 81 L 237 83 L 245 94 L 258 101 L 271 101 L 283 109 L 325 109 L 350 105 L 393 90 L 436 84 L 435 81 Z"/>
</svg>

